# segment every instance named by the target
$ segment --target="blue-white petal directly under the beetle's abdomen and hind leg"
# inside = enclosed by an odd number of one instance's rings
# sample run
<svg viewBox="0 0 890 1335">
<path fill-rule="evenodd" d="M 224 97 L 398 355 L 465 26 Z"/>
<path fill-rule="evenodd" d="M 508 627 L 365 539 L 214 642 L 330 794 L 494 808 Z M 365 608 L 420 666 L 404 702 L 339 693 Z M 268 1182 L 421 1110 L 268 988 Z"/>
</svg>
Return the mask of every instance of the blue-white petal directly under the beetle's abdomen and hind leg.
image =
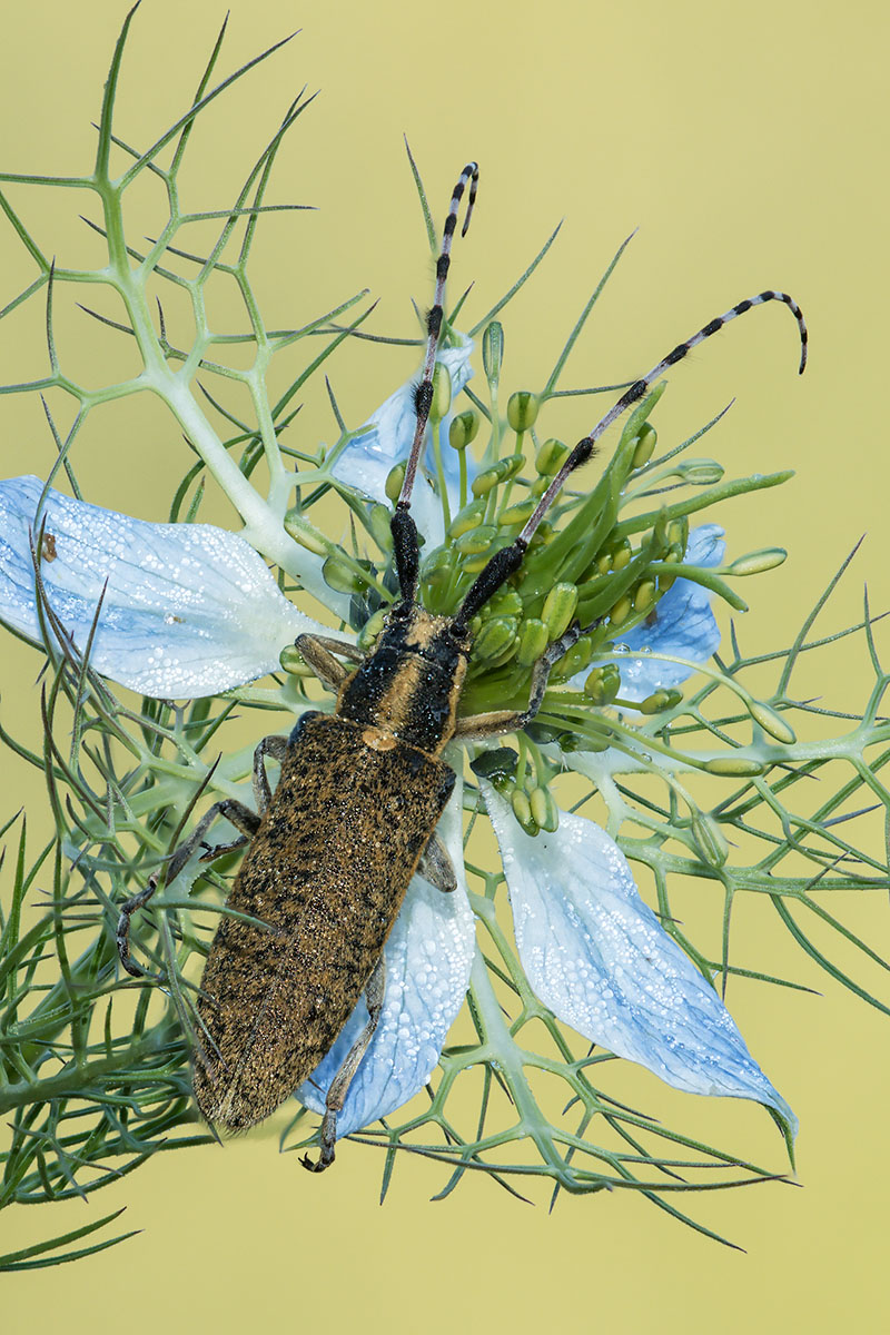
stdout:
<svg viewBox="0 0 890 1335">
<path fill-rule="evenodd" d="M 386 1117 L 423 1089 L 463 1005 L 475 930 L 463 870 L 460 786 L 458 780 L 438 828 L 448 849 L 458 888 L 446 894 L 420 876 L 415 876 L 408 886 L 383 952 L 383 1012 L 338 1117 L 338 1137 Z M 307 1108 L 324 1112 L 328 1085 L 367 1019 L 368 1011 L 362 999 L 311 1080 L 296 1091 L 296 1097 Z"/>
</svg>

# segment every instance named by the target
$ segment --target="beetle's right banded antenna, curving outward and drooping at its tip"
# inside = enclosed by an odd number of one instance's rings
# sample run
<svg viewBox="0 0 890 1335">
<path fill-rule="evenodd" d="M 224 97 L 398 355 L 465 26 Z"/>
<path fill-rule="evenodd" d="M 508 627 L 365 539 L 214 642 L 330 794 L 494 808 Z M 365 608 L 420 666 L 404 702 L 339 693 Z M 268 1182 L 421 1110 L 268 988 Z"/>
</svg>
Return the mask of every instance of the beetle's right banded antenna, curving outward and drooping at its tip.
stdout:
<svg viewBox="0 0 890 1335">
<path fill-rule="evenodd" d="M 674 366 L 677 362 L 682 362 L 687 352 L 690 352 L 694 347 L 698 347 L 699 343 L 703 343 L 705 339 L 709 339 L 711 334 L 717 334 L 725 324 L 729 324 L 730 320 L 734 320 L 738 315 L 745 315 L 745 312 L 750 311 L 754 306 L 763 306 L 766 302 L 785 302 L 798 322 L 798 331 L 801 334 L 801 364 L 798 367 L 798 374 L 803 375 L 807 355 L 806 322 L 803 319 L 803 311 L 787 292 L 775 292 L 771 290 L 758 292 L 757 296 L 750 296 L 747 300 L 739 302 L 738 306 L 734 306 L 723 315 L 715 316 L 715 319 L 705 324 L 698 334 L 693 334 L 691 338 L 686 339 L 685 343 L 678 343 L 677 347 L 673 348 L 667 356 L 663 356 L 660 362 L 656 362 L 651 371 L 643 375 L 642 379 L 634 380 L 630 388 L 624 390 L 622 396 L 612 405 L 606 417 L 600 418 L 590 435 L 586 435 L 583 441 L 578 442 L 559 473 L 554 477 L 552 482 L 542 495 L 534 513 L 528 517 L 522 533 L 508 547 L 502 547 L 500 551 L 494 554 L 488 565 L 483 567 L 476 581 L 471 585 L 470 591 L 463 599 L 455 618 L 455 625 L 458 627 L 466 627 L 467 622 L 470 622 L 479 609 L 488 602 L 500 585 L 519 569 L 526 547 L 531 542 L 538 525 L 542 522 L 551 505 L 562 491 L 570 474 L 572 474 L 575 469 L 579 469 L 583 463 L 587 463 L 587 461 L 596 453 L 596 441 L 603 431 L 606 431 L 612 422 L 622 415 L 622 413 L 626 413 L 627 409 L 639 402 L 639 399 L 648 392 L 650 387 L 663 371 Z"/>
</svg>

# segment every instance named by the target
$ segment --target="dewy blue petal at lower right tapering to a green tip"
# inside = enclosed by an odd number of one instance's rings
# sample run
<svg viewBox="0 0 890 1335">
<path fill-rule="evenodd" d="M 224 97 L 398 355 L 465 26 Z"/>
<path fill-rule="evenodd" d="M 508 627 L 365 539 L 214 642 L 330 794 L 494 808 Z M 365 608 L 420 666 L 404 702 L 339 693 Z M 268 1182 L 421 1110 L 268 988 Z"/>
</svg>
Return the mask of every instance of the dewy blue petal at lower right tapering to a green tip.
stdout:
<svg viewBox="0 0 890 1335">
<path fill-rule="evenodd" d="M 675 1089 L 754 1099 L 797 1117 L 735 1021 L 639 896 L 618 845 L 580 816 L 530 838 L 483 782 L 528 983 L 558 1019 Z"/>
</svg>

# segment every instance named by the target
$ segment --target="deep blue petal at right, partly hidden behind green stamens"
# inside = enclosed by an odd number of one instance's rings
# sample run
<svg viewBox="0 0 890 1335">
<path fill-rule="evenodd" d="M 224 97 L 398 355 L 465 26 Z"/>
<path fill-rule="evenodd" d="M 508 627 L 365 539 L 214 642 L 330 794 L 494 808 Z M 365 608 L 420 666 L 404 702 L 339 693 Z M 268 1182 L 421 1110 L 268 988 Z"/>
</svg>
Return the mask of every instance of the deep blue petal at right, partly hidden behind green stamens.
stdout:
<svg viewBox="0 0 890 1335">
<path fill-rule="evenodd" d="M 726 543 L 723 529 L 715 523 L 693 529 L 683 561 L 694 566 L 718 566 Z M 635 626 L 623 642 L 630 649 L 646 649 L 644 658 L 619 661 L 624 700 L 646 700 L 662 686 L 679 686 L 691 677 L 691 669 L 659 661 L 659 653 L 691 662 L 707 662 L 721 642 L 721 633 L 711 611 L 710 589 L 678 579 L 655 606 L 651 619 Z"/>
</svg>

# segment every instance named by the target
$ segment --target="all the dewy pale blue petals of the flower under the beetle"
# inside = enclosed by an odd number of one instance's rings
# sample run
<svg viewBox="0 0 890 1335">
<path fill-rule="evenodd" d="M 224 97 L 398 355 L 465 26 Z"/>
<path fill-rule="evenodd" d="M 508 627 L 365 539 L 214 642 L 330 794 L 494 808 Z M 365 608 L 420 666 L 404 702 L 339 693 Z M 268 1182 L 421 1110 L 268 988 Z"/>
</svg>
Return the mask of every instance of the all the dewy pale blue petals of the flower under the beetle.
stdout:
<svg viewBox="0 0 890 1335">
<path fill-rule="evenodd" d="M 458 350 L 463 351 L 463 350 Z M 402 450 L 410 387 L 375 414 L 338 461 L 370 494 Z M 395 422 L 390 430 L 387 422 Z M 355 471 L 352 465 L 355 462 Z M 43 485 L 0 483 L 0 619 L 39 641 L 31 533 Z M 157 525 L 47 491 L 41 577 L 75 647 L 87 646 L 101 601 L 91 665 L 133 690 L 200 697 L 278 666 L 280 650 L 318 630 L 279 591 L 256 553 L 209 525 Z M 37 521 L 39 522 L 39 521 Z M 690 537 L 687 559 L 717 563 L 722 531 Z M 690 674 L 658 653 L 703 662 L 718 643 L 709 594 L 678 579 L 644 627 L 627 635 L 650 653 L 622 662 L 623 693 L 642 698 Z M 458 766 L 459 768 L 459 766 Z M 350 1087 L 338 1133 L 395 1111 L 424 1087 L 467 991 L 475 952 L 462 840 L 460 781 L 440 825 L 458 874 L 446 896 L 415 876 L 386 945 L 383 1016 Z M 678 1089 L 766 1104 L 794 1135 L 797 1119 L 750 1056 L 710 983 L 640 898 L 618 845 L 591 821 L 560 814 L 555 833 L 522 832 L 484 781 L 500 846 L 516 945 L 539 999 L 591 1043 L 647 1067 Z M 324 1092 L 355 1033 L 359 1003 L 331 1052 L 298 1095 L 322 1112 Z"/>
</svg>

